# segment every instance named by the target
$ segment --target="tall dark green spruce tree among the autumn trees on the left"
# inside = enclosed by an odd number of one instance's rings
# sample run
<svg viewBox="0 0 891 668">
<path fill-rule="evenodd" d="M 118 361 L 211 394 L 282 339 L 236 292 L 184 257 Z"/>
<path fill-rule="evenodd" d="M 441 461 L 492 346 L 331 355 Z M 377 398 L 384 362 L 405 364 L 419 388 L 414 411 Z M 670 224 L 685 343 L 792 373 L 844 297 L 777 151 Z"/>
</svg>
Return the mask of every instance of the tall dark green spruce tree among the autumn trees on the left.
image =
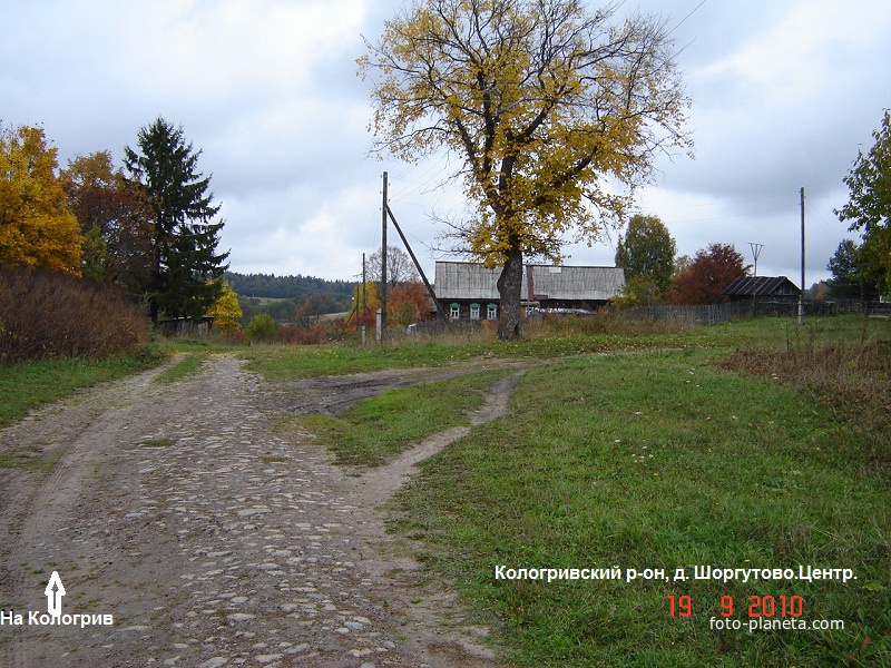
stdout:
<svg viewBox="0 0 891 668">
<path fill-rule="evenodd" d="M 138 151 L 126 147 L 130 178 L 149 203 L 153 239 L 151 274 L 145 291 L 153 322 L 168 317 L 199 317 L 219 295 L 228 253 L 218 254 L 223 220 L 208 191 L 209 177 L 198 171 L 198 157 L 183 128 L 164 118 L 139 130 Z"/>
</svg>

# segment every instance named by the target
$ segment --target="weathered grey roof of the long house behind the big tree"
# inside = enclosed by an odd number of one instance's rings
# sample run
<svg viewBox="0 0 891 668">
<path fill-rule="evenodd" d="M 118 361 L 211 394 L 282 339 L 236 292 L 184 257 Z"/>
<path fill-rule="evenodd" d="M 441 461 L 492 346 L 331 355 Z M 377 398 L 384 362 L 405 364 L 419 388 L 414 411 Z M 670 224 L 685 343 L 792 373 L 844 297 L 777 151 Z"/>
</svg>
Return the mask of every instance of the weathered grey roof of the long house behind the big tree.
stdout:
<svg viewBox="0 0 891 668">
<path fill-rule="evenodd" d="M 496 283 L 500 273 L 498 267 L 489 269 L 481 264 L 438 262 L 437 297 L 498 299 Z M 624 285 L 625 272 L 617 267 L 525 265 L 520 298 L 605 302 L 617 296 Z"/>
</svg>

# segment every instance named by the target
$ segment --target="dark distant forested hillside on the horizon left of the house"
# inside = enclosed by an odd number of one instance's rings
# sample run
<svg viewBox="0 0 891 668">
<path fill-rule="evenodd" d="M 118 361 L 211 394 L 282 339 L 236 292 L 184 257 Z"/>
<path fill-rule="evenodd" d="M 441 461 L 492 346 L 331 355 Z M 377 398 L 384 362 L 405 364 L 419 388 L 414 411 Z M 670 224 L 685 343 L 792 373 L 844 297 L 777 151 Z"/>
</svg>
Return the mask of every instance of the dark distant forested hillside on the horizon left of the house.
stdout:
<svg viewBox="0 0 891 668">
<path fill-rule="evenodd" d="M 349 281 L 326 281 L 314 276 L 275 276 L 273 274 L 237 274 L 226 272 L 225 281 L 241 297 L 245 315 L 260 306 L 258 299 L 288 299 L 294 306 L 304 302 L 312 304 L 314 313 L 337 313 L 352 307 L 353 288 L 358 285 Z M 293 306 L 280 305 L 273 314 L 276 320 L 287 321 Z M 277 313 L 278 311 L 288 313 Z M 270 311 L 270 308 L 263 308 Z"/>
</svg>

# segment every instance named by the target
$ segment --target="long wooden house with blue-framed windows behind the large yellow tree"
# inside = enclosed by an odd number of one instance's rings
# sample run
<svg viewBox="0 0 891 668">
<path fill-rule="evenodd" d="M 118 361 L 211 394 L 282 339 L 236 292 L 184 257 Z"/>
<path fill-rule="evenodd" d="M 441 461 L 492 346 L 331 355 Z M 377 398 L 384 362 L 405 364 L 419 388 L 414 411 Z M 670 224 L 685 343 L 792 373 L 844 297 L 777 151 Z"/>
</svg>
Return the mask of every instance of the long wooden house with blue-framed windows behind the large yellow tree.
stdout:
<svg viewBox="0 0 891 668">
<path fill-rule="evenodd" d="M 497 320 L 500 268 L 464 262 L 438 262 L 435 293 L 451 321 Z M 625 272 L 617 267 L 523 266 L 520 299 L 527 311 L 596 311 L 618 296 Z"/>
</svg>

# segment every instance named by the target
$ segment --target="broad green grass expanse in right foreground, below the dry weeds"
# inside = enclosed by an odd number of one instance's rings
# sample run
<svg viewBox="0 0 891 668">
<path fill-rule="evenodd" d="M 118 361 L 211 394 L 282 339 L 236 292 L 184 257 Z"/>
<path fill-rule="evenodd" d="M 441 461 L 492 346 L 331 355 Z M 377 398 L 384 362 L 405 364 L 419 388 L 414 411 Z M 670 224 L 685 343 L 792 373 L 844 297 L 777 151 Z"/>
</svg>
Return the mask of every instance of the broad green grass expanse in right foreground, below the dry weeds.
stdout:
<svg viewBox="0 0 891 668">
<path fill-rule="evenodd" d="M 870 434 L 715 356 L 591 355 L 529 371 L 508 416 L 424 462 L 400 493 L 401 530 L 518 665 L 891 664 L 891 484 L 863 448 Z M 499 564 L 665 578 L 547 583 L 496 579 Z M 856 579 L 694 578 L 695 566 L 800 564 Z M 669 596 L 691 597 L 693 613 L 672 617 Z M 782 620 L 793 618 L 781 597 L 794 596 L 795 619 L 844 629 L 746 631 L 750 597 L 773 597 L 770 619 Z M 712 628 L 722 597 L 743 630 Z"/>
</svg>

